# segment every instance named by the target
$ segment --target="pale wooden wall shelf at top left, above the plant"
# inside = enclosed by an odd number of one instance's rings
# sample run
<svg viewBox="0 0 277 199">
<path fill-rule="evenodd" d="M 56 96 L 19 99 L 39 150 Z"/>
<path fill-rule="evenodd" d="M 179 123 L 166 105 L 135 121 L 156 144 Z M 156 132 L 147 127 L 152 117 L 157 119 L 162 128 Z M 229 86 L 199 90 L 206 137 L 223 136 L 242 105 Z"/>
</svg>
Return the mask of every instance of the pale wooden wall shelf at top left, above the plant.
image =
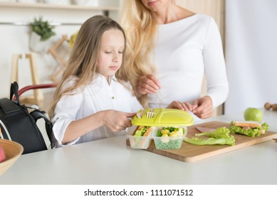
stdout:
<svg viewBox="0 0 277 199">
<path fill-rule="evenodd" d="M 28 8 L 28 9 L 67 9 L 67 10 L 90 10 L 90 11 L 118 11 L 118 7 L 112 6 L 79 6 L 63 4 L 43 4 L 43 3 L 9 3 L 0 2 L 0 7 L 6 8 Z"/>
</svg>

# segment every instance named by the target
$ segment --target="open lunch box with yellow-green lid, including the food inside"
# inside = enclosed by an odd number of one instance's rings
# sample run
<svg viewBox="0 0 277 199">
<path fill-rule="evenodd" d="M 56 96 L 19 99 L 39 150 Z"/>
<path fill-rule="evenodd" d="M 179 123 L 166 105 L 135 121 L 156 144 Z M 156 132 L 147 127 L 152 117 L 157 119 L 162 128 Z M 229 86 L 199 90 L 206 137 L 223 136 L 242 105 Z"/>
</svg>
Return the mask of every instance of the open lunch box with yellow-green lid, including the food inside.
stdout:
<svg viewBox="0 0 277 199">
<path fill-rule="evenodd" d="M 179 149 L 187 134 L 187 126 L 193 122 L 192 115 L 180 109 L 141 109 L 131 119 L 137 129 L 127 136 L 135 149 L 147 149 L 152 139 L 156 149 Z"/>
</svg>

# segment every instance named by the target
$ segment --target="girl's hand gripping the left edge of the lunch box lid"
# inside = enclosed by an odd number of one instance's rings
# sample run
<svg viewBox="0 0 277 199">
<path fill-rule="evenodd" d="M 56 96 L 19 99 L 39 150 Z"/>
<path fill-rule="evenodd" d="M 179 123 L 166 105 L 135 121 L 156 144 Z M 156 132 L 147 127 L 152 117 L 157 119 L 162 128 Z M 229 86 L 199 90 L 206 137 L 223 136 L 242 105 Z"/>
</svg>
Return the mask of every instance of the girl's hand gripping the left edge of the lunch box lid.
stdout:
<svg viewBox="0 0 277 199">
<path fill-rule="evenodd" d="M 136 113 L 119 112 L 116 110 L 105 111 L 105 117 L 103 117 L 103 123 L 111 131 L 117 132 L 132 127 L 130 117 L 133 117 Z"/>
</svg>

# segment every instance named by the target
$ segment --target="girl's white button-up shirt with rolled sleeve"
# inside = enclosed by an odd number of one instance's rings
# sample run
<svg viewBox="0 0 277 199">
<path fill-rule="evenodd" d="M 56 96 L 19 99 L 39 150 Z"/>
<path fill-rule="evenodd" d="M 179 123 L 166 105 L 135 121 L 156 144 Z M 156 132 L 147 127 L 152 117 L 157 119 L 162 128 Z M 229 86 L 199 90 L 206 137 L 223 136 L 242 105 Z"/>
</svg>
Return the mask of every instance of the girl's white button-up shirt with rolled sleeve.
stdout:
<svg viewBox="0 0 277 199">
<path fill-rule="evenodd" d="M 73 81 L 71 80 L 69 84 L 73 84 Z M 88 117 L 90 114 L 106 109 L 137 112 L 141 108 L 137 98 L 115 77 L 111 78 L 109 85 L 103 75 L 97 75 L 90 85 L 85 86 L 84 90 L 76 90 L 74 95 L 64 95 L 57 103 L 52 121 L 53 134 L 58 141 L 58 146 L 63 146 L 61 144 L 63 135 L 68 124 L 74 120 Z M 104 126 L 90 131 L 68 144 L 83 143 L 122 134 L 125 134 L 125 131 L 119 131 L 115 134 Z"/>
</svg>

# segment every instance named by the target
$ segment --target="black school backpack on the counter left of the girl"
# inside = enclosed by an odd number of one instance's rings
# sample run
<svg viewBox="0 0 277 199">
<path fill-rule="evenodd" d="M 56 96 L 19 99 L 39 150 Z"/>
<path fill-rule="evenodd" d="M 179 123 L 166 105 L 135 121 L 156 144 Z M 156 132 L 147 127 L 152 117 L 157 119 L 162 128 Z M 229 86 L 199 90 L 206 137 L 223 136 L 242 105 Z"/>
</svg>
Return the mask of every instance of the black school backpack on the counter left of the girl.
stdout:
<svg viewBox="0 0 277 199">
<path fill-rule="evenodd" d="M 19 102 L 19 85 L 17 82 L 11 83 L 10 99 L 0 99 L 0 127 L 1 139 L 16 141 L 23 146 L 23 154 L 36 151 L 53 149 L 53 124 L 46 117 L 45 112 L 36 105 L 27 107 Z M 13 100 L 13 97 L 15 99 Z M 50 146 L 46 146 L 46 141 L 41 134 L 36 122 L 44 119 L 46 132 Z"/>
</svg>

